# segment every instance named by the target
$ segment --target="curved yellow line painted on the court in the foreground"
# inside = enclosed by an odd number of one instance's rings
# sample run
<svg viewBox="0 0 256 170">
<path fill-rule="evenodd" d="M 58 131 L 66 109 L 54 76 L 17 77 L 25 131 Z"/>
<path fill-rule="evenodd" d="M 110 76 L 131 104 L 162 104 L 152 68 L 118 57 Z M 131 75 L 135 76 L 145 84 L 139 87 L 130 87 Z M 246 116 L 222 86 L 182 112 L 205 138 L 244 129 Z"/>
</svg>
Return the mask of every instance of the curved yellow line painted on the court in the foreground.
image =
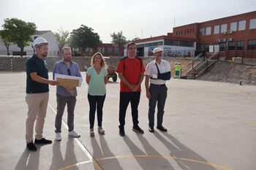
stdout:
<svg viewBox="0 0 256 170">
<path fill-rule="evenodd" d="M 118 158 L 165 158 L 165 159 L 173 159 L 173 160 L 201 163 L 201 164 L 205 164 L 205 165 L 208 165 L 208 166 L 214 166 L 215 168 L 219 168 L 219 169 L 222 169 L 222 170 L 233 170 L 233 169 L 230 169 L 226 166 L 220 166 L 216 163 L 207 163 L 207 162 L 197 161 L 197 160 L 189 159 L 189 158 L 176 158 L 176 157 L 172 157 L 172 156 L 162 156 L 162 155 L 119 155 L 119 156 L 113 156 L 113 157 L 107 157 L 107 158 L 98 158 L 98 159 L 96 158 L 94 161 L 105 161 L 105 160 L 118 159 Z M 76 164 L 61 168 L 59 170 L 70 169 L 74 166 L 78 166 L 78 165 L 81 165 L 81 164 L 84 164 L 84 163 L 90 163 L 90 162 L 91 161 L 84 161 L 84 162 L 81 162 L 81 163 L 76 163 Z M 94 163 L 94 168 L 96 168 L 97 170 L 101 170 L 102 168 L 98 165 L 99 165 L 99 163 Z"/>
</svg>

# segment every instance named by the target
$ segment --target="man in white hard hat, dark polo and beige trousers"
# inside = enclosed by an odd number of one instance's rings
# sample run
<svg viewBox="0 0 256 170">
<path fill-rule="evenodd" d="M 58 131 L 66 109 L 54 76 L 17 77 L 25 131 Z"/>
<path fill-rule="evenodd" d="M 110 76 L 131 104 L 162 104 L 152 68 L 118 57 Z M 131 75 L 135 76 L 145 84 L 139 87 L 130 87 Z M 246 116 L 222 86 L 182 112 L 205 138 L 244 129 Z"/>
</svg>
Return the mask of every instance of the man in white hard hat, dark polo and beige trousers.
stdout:
<svg viewBox="0 0 256 170">
<path fill-rule="evenodd" d="M 44 58 L 48 54 L 48 42 L 42 36 L 34 40 L 36 53 L 26 61 L 26 103 L 28 117 L 26 119 L 26 147 L 36 151 L 34 144 L 51 144 L 51 141 L 42 137 L 42 128 L 48 106 L 49 84 L 58 82 L 48 80 L 48 66 Z M 34 121 L 36 122 L 36 136 L 33 140 Z"/>
</svg>

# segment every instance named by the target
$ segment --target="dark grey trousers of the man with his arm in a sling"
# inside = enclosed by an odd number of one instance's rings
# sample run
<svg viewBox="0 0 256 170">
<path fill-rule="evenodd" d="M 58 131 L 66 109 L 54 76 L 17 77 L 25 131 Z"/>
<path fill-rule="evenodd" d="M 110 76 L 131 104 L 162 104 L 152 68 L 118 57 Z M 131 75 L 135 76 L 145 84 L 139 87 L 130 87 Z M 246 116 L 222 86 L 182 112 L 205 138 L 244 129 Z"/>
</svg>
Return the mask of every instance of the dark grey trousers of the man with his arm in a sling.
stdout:
<svg viewBox="0 0 256 170">
<path fill-rule="evenodd" d="M 166 85 L 153 85 L 149 86 L 149 92 L 151 98 L 148 103 L 148 125 L 149 127 L 154 127 L 154 112 L 157 105 L 157 126 L 162 125 L 162 119 L 165 109 L 165 100 L 167 98 L 167 87 Z"/>
</svg>

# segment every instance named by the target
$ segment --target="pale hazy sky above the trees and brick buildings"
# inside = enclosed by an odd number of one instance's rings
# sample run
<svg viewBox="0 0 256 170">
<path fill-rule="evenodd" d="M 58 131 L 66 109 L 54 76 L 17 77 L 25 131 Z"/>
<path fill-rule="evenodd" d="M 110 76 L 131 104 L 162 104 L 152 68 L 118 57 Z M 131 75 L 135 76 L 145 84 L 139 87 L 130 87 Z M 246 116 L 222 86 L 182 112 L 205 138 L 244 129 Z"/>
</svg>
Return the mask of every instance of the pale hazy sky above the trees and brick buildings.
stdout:
<svg viewBox="0 0 256 170">
<path fill-rule="evenodd" d="M 0 29 L 6 18 L 33 22 L 37 30 L 71 32 L 82 24 L 102 42 L 123 31 L 127 39 L 166 35 L 174 26 L 256 11 L 255 0 L 0 0 Z"/>
</svg>

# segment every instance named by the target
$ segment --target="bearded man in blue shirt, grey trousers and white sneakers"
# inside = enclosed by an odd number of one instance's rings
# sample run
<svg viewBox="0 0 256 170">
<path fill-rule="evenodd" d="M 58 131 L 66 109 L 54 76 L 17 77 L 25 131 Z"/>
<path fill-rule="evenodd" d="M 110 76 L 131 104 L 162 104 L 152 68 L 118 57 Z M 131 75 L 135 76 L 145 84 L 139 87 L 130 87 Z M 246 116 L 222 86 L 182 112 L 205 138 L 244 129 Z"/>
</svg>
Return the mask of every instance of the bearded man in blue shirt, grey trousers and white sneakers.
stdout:
<svg viewBox="0 0 256 170">
<path fill-rule="evenodd" d="M 69 77 L 79 77 L 81 79 L 80 70 L 78 63 L 71 61 L 72 53 L 70 47 L 63 47 L 61 50 L 63 59 L 55 63 L 53 67 L 53 79 L 60 82 L 57 85 L 56 96 L 57 96 L 57 114 L 55 119 L 55 133 L 56 141 L 61 141 L 61 119 L 64 113 L 65 106 L 67 104 L 67 125 L 69 127 L 69 136 L 80 137 L 74 131 L 74 110 L 76 103 L 76 96 L 78 95 L 77 89 L 75 88 L 75 83 L 72 78 Z M 56 78 L 57 74 L 66 75 L 60 80 Z M 65 80 L 66 78 L 66 80 Z M 73 84 L 72 84 L 73 83 Z"/>
</svg>

